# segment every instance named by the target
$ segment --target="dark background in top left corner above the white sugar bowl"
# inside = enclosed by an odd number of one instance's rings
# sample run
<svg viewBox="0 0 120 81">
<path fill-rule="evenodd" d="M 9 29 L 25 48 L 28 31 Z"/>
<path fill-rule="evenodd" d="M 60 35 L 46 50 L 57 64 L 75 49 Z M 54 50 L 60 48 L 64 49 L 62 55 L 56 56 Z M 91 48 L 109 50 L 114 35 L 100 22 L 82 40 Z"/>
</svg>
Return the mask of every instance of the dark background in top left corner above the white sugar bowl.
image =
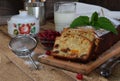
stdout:
<svg viewBox="0 0 120 81">
<path fill-rule="evenodd" d="M 0 0 L 0 16 L 17 14 L 23 5 L 22 0 Z"/>
</svg>

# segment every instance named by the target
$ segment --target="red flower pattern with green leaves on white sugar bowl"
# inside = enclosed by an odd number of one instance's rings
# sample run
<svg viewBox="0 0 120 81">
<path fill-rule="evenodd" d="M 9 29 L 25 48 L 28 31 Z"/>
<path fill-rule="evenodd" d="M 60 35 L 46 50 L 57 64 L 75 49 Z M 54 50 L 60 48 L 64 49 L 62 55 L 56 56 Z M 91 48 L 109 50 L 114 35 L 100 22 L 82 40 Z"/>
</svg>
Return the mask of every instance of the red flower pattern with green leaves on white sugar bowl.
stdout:
<svg viewBox="0 0 120 81">
<path fill-rule="evenodd" d="M 26 24 L 13 24 L 14 26 L 14 35 L 18 34 L 35 34 L 36 33 L 36 27 L 35 23 L 26 23 Z"/>
</svg>

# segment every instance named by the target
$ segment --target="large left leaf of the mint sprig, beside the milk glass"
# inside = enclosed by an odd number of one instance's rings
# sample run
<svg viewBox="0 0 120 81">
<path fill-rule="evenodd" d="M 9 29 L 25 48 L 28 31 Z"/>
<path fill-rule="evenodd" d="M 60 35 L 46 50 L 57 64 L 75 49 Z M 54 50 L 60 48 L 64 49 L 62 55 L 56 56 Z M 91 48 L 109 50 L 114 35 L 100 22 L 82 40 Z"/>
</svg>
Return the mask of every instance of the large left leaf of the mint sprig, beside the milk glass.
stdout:
<svg viewBox="0 0 120 81">
<path fill-rule="evenodd" d="M 88 16 L 79 16 L 70 24 L 70 28 L 75 28 L 78 26 L 86 26 L 89 25 L 89 17 Z"/>
</svg>

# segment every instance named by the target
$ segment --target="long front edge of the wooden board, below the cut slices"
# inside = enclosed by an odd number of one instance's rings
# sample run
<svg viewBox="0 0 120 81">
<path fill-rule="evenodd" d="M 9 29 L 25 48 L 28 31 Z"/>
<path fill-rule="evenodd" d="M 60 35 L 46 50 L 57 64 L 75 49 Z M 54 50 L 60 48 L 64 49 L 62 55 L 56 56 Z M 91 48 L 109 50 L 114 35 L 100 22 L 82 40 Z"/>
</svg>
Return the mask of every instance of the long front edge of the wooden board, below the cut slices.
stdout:
<svg viewBox="0 0 120 81">
<path fill-rule="evenodd" d="M 58 60 L 53 58 L 52 56 L 40 58 L 39 61 L 44 64 L 48 64 L 60 69 L 72 71 L 75 73 L 83 73 L 86 74 L 87 66 L 84 64 L 73 63 L 70 61 Z M 77 66 L 76 66 L 77 65 Z M 74 66 L 74 67 L 73 67 Z M 82 66 L 82 67 L 81 67 Z"/>
</svg>

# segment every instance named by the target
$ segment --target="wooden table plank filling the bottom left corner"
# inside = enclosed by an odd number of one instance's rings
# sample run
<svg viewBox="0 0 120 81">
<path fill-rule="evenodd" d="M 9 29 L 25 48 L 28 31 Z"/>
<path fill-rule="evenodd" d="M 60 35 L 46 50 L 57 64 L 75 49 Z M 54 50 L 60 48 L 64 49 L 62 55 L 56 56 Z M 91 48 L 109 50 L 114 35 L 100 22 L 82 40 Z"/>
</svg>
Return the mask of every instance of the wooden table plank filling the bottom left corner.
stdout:
<svg viewBox="0 0 120 81">
<path fill-rule="evenodd" d="M 0 58 L 0 81 L 33 81 L 1 53 Z"/>
</svg>

